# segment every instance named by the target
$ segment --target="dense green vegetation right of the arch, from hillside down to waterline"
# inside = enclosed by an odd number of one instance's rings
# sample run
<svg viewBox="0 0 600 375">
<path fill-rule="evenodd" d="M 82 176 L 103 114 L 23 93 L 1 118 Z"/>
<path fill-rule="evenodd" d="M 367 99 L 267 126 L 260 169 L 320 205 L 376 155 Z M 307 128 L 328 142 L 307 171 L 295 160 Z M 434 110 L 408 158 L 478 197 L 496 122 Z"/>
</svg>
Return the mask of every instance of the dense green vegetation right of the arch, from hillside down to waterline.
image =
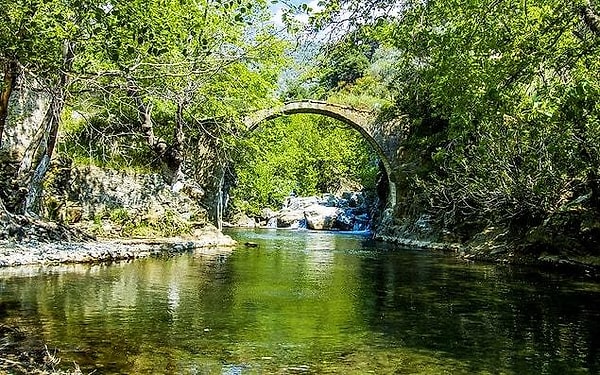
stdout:
<svg viewBox="0 0 600 375">
<path fill-rule="evenodd" d="M 408 115 L 387 238 L 596 263 L 597 2 L 326 3 L 313 25 L 348 30 L 293 94 L 366 96 Z"/>
</svg>

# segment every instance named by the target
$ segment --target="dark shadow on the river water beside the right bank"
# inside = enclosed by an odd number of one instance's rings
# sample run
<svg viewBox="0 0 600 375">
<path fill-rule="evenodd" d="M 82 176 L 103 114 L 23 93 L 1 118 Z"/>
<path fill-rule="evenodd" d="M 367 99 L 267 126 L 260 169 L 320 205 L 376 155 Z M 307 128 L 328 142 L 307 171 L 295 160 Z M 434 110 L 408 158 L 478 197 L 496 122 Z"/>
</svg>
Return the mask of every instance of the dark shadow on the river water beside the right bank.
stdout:
<svg viewBox="0 0 600 375">
<path fill-rule="evenodd" d="M 535 270 L 388 253 L 362 267 L 370 327 L 473 372 L 598 373 L 598 286 Z"/>
</svg>

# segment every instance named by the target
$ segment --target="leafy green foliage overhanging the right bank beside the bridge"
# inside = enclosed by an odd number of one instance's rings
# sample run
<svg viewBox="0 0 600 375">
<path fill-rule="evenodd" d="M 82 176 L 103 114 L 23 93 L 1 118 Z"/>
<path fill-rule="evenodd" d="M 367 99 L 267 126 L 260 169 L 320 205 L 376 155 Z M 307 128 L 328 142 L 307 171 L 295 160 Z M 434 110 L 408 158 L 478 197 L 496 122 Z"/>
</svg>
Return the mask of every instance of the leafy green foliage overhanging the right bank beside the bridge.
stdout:
<svg viewBox="0 0 600 375">
<path fill-rule="evenodd" d="M 598 194 L 600 39 L 581 13 L 595 2 L 326 3 L 318 27 L 374 26 L 365 76 L 413 118 L 407 189 L 442 226 L 526 229 Z"/>
</svg>

